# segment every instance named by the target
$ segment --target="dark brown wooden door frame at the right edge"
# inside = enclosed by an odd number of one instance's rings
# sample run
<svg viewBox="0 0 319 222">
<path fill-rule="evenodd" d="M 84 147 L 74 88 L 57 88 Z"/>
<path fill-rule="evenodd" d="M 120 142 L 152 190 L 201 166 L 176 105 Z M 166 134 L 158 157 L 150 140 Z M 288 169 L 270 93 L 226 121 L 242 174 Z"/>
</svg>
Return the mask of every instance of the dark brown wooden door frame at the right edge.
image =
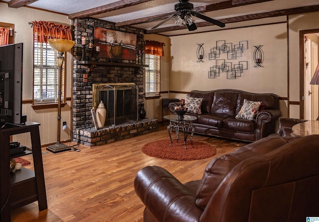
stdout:
<svg viewBox="0 0 319 222">
<path fill-rule="evenodd" d="M 319 29 L 310 29 L 310 30 L 300 30 L 299 31 L 299 53 L 300 53 L 300 58 L 299 58 L 299 104 L 300 104 L 300 110 L 299 110 L 299 115 L 301 119 L 305 118 L 305 40 L 304 40 L 304 35 L 305 34 L 312 34 L 312 33 L 319 33 Z"/>
</svg>

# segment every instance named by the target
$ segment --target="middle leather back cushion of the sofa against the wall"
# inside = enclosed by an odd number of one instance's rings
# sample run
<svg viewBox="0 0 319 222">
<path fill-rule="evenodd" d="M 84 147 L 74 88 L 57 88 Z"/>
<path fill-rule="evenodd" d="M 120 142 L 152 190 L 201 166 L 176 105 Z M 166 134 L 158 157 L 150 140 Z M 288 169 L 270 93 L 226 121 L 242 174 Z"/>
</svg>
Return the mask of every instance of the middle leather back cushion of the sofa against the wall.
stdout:
<svg viewBox="0 0 319 222">
<path fill-rule="evenodd" d="M 235 115 L 238 93 L 220 91 L 214 93 L 210 113 Z"/>
</svg>

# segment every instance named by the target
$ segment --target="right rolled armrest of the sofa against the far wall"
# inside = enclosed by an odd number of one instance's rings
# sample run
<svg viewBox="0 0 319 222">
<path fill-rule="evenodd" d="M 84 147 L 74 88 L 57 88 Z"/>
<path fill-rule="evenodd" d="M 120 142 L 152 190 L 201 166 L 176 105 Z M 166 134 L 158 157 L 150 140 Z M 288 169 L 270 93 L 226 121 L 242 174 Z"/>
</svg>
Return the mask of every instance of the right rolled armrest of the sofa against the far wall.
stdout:
<svg viewBox="0 0 319 222">
<path fill-rule="evenodd" d="M 264 138 L 275 132 L 275 123 L 280 116 L 280 110 L 263 110 L 256 115 L 255 140 Z"/>
</svg>

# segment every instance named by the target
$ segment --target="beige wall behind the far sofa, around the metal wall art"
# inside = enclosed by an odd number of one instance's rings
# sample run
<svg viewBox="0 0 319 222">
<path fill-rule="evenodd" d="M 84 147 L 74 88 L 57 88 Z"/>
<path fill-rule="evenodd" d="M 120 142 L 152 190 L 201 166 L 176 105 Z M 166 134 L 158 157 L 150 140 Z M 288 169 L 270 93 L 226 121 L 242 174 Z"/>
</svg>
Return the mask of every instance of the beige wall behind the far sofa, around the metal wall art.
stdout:
<svg viewBox="0 0 319 222">
<path fill-rule="evenodd" d="M 282 21 L 282 17 L 277 18 Z M 170 71 L 170 91 L 190 91 L 209 89 L 240 89 L 256 93 L 275 93 L 294 103 L 289 106 L 288 101 L 280 101 L 282 116 L 300 117 L 300 106 L 295 105 L 300 100 L 300 42 L 301 30 L 318 29 L 319 12 L 288 16 L 287 24 L 261 25 L 248 28 L 221 30 L 201 34 L 171 37 L 172 69 Z M 276 22 L 276 20 L 272 20 Z M 263 24 L 263 19 L 260 24 Z M 227 28 L 226 24 L 226 28 Z M 289 79 L 287 61 L 287 36 L 289 36 Z M 190 40 L 189 40 L 190 38 Z M 238 42 L 249 40 L 250 51 L 245 55 L 249 61 L 249 70 L 244 71 L 242 77 L 227 80 L 225 75 L 216 79 L 208 79 L 210 62 L 208 53 L 210 45 L 216 40 Z M 204 43 L 204 63 L 196 63 L 197 43 Z M 264 45 L 264 68 L 254 68 L 252 61 L 253 45 Z M 187 46 L 187 47 L 186 47 Z M 241 59 L 238 59 L 241 60 Z M 289 85 L 289 89 L 288 89 Z M 170 94 L 171 98 L 183 98 L 184 94 Z"/>
</svg>

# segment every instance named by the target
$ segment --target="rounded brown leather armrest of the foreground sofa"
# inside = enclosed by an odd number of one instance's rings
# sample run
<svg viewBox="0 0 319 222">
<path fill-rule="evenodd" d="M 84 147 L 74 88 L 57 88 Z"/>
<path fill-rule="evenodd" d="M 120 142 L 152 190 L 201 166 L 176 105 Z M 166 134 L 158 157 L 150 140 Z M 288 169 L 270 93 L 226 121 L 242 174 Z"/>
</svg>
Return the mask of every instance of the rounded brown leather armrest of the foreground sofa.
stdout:
<svg viewBox="0 0 319 222">
<path fill-rule="evenodd" d="M 193 192 L 159 166 L 140 170 L 134 180 L 134 188 L 158 221 L 199 221 L 203 212 L 195 205 Z"/>
</svg>

